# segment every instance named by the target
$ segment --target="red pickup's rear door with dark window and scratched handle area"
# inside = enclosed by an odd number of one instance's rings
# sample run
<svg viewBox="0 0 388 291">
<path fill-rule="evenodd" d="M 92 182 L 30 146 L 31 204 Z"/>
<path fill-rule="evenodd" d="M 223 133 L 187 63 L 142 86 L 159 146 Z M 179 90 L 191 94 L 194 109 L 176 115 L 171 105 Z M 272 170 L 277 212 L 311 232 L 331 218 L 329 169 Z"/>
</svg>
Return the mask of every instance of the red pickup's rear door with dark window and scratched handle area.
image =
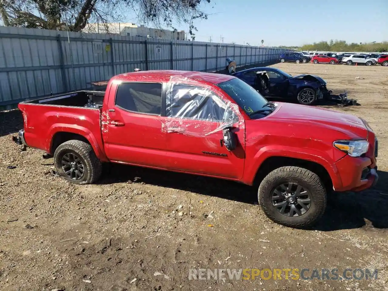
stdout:
<svg viewBox="0 0 388 291">
<path fill-rule="evenodd" d="M 163 87 L 162 83 L 149 82 L 112 85 L 102 113 L 102 137 L 108 159 L 164 168 Z"/>
</svg>

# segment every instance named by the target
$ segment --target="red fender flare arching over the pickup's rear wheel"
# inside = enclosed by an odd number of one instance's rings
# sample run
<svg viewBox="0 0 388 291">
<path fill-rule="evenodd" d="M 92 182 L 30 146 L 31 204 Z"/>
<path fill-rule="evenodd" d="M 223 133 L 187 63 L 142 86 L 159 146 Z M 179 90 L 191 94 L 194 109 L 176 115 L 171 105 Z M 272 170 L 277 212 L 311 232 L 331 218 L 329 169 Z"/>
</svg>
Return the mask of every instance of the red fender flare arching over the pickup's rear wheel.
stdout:
<svg viewBox="0 0 388 291">
<path fill-rule="evenodd" d="M 78 135 L 85 137 L 85 139 L 87 139 L 88 142 L 90 143 L 90 145 L 92 146 L 97 158 L 99 158 L 101 161 L 108 161 L 104 150 L 100 147 L 98 140 L 96 139 L 96 137 L 94 136 L 94 134 L 90 130 L 88 130 L 87 128 L 85 128 L 83 126 L 79 126 L 79 125 L 71 125 L 71 127 L 70 127 L 69 124 L 67 124 L 67 123 L 55 123 L 49 129 L 50 140 L 47 140 L 47 142 L 48 142 L 47 149 L 49 149 L 50 152 L 51 152 L 51 148 L 52 148 L 53 137 L 58 132 L 75 133 L 75 134 L 78 134 Z M 54 154 L 54 153 L 52 153 L 52 154 Z"/>
</svg>

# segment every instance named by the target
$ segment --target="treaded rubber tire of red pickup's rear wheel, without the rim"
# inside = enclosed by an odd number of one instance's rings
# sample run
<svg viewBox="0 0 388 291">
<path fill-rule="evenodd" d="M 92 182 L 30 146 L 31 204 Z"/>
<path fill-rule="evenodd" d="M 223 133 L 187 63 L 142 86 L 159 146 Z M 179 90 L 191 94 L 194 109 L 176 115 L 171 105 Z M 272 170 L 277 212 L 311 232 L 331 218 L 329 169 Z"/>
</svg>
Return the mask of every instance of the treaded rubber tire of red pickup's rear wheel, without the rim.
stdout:
<svg viewBox="0 0 388 291">
<path fill-rule="evenodd" d="M 75 154 L 81 160 L 84 173 L 79 180 L 66 176 L 62 169 L 61 160 L 67 153 Z M 102 163 L 97 158 L 92 146 L 81 140 L 69 140 L 59 145 L 54 152 L 54 166 L 58 174 L 65 180 L 76 184 L 94 183 L 100 178 L 102 172 Z"/>
</svg>

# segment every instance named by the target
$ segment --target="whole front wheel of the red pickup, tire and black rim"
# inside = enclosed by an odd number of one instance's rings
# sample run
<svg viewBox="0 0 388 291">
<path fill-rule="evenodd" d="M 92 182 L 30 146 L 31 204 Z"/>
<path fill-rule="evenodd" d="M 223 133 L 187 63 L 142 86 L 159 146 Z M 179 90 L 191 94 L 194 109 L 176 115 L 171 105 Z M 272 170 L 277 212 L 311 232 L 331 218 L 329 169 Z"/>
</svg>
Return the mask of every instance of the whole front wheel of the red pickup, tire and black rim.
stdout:
<svg viewBox="0 0 388 291">
<path fill-rule="evenodd" d="M 259 186 L 258 200 L 270 220 L 288 227 L 311 227 L 327 205 L 318 175 L 296 166 L 270 172 Z"/>
</svg>

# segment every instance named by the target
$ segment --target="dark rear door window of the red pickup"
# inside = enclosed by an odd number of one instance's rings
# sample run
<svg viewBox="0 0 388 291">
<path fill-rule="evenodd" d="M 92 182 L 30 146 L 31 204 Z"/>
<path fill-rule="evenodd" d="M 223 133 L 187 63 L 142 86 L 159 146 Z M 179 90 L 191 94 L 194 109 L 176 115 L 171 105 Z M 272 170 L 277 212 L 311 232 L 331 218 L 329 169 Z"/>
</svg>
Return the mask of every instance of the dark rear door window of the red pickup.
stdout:
<svg viewBox="0 0 388 291">
<path fill-rule="evenodd" d="M 133 112 L 161 114 L 162 84 L 124 82 L 116 92 L 116 106 Z"/>
</svg>

